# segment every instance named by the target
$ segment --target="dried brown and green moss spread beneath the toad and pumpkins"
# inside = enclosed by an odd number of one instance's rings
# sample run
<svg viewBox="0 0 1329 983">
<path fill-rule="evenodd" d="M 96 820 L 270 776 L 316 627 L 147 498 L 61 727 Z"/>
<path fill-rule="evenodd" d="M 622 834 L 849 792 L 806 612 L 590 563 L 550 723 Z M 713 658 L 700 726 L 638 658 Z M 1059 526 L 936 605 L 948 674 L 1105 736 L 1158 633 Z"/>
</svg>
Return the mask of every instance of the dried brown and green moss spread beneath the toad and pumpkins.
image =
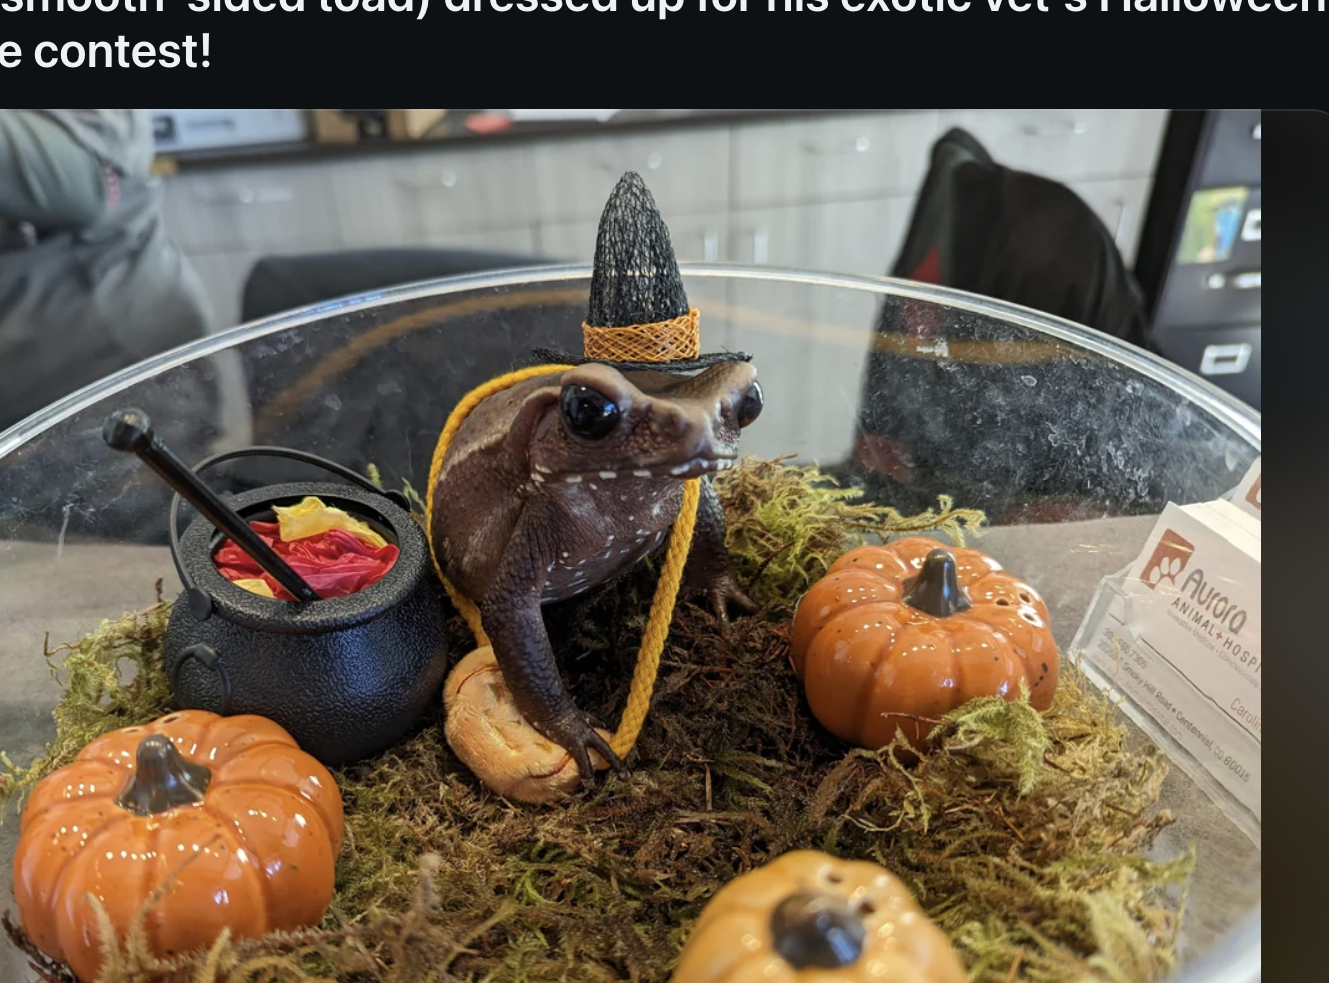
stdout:
<svg viewBox="0 0 1329 983">
<path fill-rule="evenodd" d="M 771 577 L 796 596 L 827 561 L 890 521 L 884 510 L 845 514 L 863 506 L 817 477 L 771 462 L 726 476 L 740 578 Z M 769 507 L 773 499 L 788 507 Z M 788 522 L 791 513 L 812 530 Z M 948 513 L 957 533 L 970 523 L 945 503 L 921 521 Z M 777 566 L 795 551 L 791 541 L 823 566 Z M 609 721 L 623 705 L 653 582 L 643 567 L 550 611 L 573 692 Z M 847 748 L 816 724 L 789 667 L 787 615 L 784 595 L 724 635 L 706 611 L 680 606 L 634 774 L 585 798 L 508 804 L 455 759 L 436 719 L 424 721 L 393 751 L 336 776 L 347 837 L 322 926 L 219 939 L 175 963 L 130 939 L 105 982 L 663 982 L 723 883 L 809 846 L 904 877 L 982 983 L 1167 974 L 1179 914 L 1166 887 L 1184 882 L 1192 859 L 1143 855 L 1170 821 L 1154 812 L 1166 760 L 1127 745 L 1112 707 L 1074 666 L 1047 715 L 974 701 L 910 769 L 889 749 Z M 141 624 L 124 623 L 140 632 L 126 644 L 154 651 L 159 634 L 145 638 Z M 116 646 L 104 636 L 92 648 Z M 92 660 L 90 675 L 108 685 Z M 84 685 L 80 671 L 69 671 L 70 684 Z M 152 716 L 165 701 L 130 705 Z M 74 733 L 62 731 L 69 747 Z M 11 935 L 23 938 L 13 926 Z M 65 979 L 37 962 L 48 979 Z"/>
</svg>

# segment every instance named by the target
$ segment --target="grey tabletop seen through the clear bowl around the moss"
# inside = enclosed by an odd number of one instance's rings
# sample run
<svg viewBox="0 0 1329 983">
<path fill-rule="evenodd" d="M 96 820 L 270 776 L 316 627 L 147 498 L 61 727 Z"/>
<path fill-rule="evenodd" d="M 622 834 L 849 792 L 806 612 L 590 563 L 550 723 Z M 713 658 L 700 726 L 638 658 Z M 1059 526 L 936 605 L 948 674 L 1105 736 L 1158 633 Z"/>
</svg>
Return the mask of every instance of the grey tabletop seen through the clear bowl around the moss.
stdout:
<svg viewBox="0 0 1329 983">
<path fill-rule="evenodd" d="M 1144 543 L 1154 517 L 1038 526 L 1001 526 L 973 541 L 1037 587 L 1047 602 L 1062 651 L 1079 627 L 1100 578 L 1126 566 Z M 113 575 L 112 575 L 113 571 Z M 51 644 L 77 639 L 102 618 L 148 607 L 161 578 L 167 596 L 179 584 L 163 547 L 110 543 L 0 542 L 0 748 L 31 760 L 54 735 L 51 709 L 57 688 L 43 658 Z M 1140 740 L 1144 740 L 1140 736 Z M 1163 806 L 1177 817 L 1158 854 L 1172 857 L 1196 844 L 1199 869 L 1191 885 L 1184 950 L 1203 952 L 1260 901 L 1260 851 L 1180 769 L 1164 784 Z M 8 858 L 17 824 L 0 825 L 0 907 L 12 905 Z M 0 979 L 27 979 L 15 954 L 0 944 Z"/>
</svg>

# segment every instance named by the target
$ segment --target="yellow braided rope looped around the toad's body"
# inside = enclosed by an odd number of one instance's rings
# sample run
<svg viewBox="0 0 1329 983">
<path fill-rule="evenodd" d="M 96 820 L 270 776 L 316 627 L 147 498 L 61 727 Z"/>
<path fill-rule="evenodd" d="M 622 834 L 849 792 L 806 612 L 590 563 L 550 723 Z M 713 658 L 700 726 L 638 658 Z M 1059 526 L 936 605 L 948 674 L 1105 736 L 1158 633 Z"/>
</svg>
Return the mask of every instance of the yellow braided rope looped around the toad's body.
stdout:
<svg viewBox="0 0 1329 983">
<path fill-rule="evenodd" d="M 433 449 L 424 507 L 425 538 L 429 541 L 429 557 L 433 559 L 433 569 L 437 571 L 439 579 L 443 581 L 448 596 L 452 598 L 452 603 L 461 611 L 461 616 L 466 620 L 472 634 L 476 636 L 476 643 L 480 646 L 490 644 L 489 636 L 480 622 L 480 608 L 469 598 L 462 596 L 448 578 L 443 575 L 439 555 L 433 549 L 433 490 L 439 484 L 439 474 L 443 472 L 443 458 L 447 456 L 448 448 L 452 446 L 457 430 L 461 429 L 462 421 L 482 400 L 493 396 L 496 392 L 510 389 L 528 379 L 565 372 L 569 368 L 571 365 L 536 365 L 490 379 L 484 385 L 472 389 L 457 404 L 456 409 L 452 410 Z M 651 616 L 646 623 L 646 631 L 642 634 L 642 647 L 637 654 L 637 668 L 633 671 L 633 685 L 627 692 L 627 705 L 623 708 L 623 719 L 619 721 L 618 731 L 609 743 L 614 753 L 619 757 L 626 757 L 627 752 L 633 749 L 638 735 L 642 732 L 642 725 L 646 723 L 646 712 L 651 705 L 651 693 L 655 691 L 655 676 L 661 667 L 661 652 L 664 651 L 668 626 L 674 620 L 674 603 L 678 599 L 679 586 L 683 583 L 683 570 L 687 566 L 687 554 L 692 546 L 692 530 L 696 527 L 696 509 L 700 501 L 702 480 L 691 478 L 683 485 L 683 507 L 679 510 L 678 521 L 674 522 L 674 531 L 670 534 L 668 549 L 664 554 L 664 566 L 661 570 L 661 579 L 655 587 L 655 598 L 651 602 Z"/>
</svg>

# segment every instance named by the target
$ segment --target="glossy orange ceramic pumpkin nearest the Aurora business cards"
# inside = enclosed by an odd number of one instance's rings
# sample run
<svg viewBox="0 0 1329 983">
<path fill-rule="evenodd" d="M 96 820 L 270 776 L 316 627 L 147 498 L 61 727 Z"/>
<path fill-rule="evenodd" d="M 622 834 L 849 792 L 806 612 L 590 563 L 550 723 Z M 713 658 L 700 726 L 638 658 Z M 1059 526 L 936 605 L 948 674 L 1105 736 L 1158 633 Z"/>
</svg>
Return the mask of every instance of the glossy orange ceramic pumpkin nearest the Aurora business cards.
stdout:
<svg viewBox="0 0 1329 983">
<path fill-rule="evenodd" d="M 991 557 L 909 537 L 837 559 L 793 616 L 793 667 L 812 713 L 837 737 L 913 743 L 978 696 L 1047 709 L 1058 654 L 1038 591 Z M 909 716 L 898 716 L 909 715 Z"/>
</svg>

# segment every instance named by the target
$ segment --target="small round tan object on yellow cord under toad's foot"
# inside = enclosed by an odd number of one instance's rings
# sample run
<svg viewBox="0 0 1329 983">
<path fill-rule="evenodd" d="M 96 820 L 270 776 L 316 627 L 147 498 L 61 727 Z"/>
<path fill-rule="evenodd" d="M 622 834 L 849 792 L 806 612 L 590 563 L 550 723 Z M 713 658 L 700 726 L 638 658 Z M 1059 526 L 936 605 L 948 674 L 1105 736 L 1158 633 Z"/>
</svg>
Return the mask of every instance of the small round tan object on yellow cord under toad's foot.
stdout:
<svg viewBox="0 0 1329 983">
<path fill-rule="evenodd" d="M 573 792 L 581 776 L 571 755 L 541 736 L 517 709 L 493 648 L 474 650 L 443 684 L 444 733 L 477 778 L 518 802 L 549 802 Z M 613 736 L 599 732 L 606 741 Z M 594 751 L 591 762 L 607 769 Z"/>
</svg>

